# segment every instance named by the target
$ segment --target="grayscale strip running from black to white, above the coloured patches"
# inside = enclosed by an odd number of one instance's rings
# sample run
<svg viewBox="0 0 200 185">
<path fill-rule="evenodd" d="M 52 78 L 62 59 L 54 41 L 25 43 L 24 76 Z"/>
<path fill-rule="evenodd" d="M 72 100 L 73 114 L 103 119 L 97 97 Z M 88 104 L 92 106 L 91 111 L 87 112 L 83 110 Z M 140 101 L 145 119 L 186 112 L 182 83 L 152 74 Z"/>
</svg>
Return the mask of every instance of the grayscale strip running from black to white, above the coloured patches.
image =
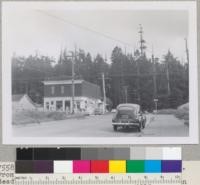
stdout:
<svg viewBox="0 0 200 185">
<path fill-rule="evenodd" d="M 18 148 L 17 160 L 181 160 L 180 147 Z"/>
</svg>

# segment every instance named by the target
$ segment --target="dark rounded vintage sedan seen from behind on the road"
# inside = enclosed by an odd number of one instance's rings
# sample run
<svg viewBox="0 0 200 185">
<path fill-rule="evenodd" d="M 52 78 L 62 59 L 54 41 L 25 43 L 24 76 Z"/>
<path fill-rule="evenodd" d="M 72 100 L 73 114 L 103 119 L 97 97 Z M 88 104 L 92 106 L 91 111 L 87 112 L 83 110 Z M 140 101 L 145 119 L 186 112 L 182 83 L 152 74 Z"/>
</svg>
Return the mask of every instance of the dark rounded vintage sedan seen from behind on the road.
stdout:
<svg viewBox="0 0 200 185">
<path fill-rule="evenodd" d="M 143 115 L 140 105 L 138 104 L 119 104 L 116 113 L 112 119 L 114 131 L 121 128 L 138 128 L 140 132 L 145 128 L 146 116 Z"/>
</svg>

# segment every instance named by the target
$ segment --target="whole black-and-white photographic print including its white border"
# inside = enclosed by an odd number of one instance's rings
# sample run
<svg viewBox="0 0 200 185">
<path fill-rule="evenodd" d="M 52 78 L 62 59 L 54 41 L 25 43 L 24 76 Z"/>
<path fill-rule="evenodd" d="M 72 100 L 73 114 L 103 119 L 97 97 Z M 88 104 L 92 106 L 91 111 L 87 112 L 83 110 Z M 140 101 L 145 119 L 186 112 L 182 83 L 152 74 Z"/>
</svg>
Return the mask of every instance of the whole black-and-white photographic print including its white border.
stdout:
<svg viewBox="0 0 200 185">
<path fill-rule="evenodd" d="M 198 142 L 195 2 L 3 2 L 5 144 Z"/>
</svg>

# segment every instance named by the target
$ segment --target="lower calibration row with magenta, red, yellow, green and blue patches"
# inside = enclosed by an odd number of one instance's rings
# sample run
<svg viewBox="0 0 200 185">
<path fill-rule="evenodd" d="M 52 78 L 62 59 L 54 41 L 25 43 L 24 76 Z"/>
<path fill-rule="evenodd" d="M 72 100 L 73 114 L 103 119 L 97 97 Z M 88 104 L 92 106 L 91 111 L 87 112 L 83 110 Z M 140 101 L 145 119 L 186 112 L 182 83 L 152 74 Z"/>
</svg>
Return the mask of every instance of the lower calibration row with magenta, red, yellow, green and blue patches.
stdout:
<svg viewBox="0 0 200 185">
<path fill-rule="evenodd" d="M 16 161 L 16 173 L 181 173 L 181 160 Z"/>
</svg>

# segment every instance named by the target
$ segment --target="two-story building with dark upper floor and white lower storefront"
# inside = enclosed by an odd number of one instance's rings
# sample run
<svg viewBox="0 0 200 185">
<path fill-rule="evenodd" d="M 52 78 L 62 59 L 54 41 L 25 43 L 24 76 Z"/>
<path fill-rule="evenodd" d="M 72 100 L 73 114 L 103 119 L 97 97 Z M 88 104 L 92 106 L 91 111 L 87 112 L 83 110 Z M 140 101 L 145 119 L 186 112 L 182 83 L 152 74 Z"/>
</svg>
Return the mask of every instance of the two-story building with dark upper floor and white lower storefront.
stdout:
<svg viewBox="0 0 200 185">
<path fill-rule="evenodd" d="M 44 110 L 72 112 L 72 80 L 46 80 L 44 83 Z M 74 112 L 93 114 L 101 104 L 98 85 L 74 80 Z"/>
</svg>

